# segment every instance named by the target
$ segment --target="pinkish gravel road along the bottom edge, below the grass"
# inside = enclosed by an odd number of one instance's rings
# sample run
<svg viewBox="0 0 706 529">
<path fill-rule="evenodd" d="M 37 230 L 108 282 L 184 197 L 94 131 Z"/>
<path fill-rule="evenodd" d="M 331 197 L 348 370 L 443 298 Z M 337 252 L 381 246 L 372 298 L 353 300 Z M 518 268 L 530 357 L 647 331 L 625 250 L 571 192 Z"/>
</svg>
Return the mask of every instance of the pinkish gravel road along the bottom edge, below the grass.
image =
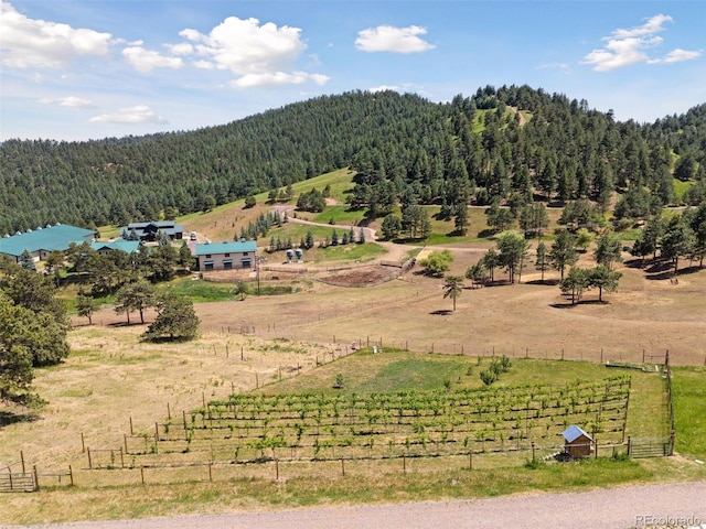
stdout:
<svg viewBox="0 0 706 529">
<path fill-rule="evenodd" d="M 26 527 L 26 526 L 25 526 Z M 491 499 L 361 505 L 146 520 L 62 523 L 53 529 L 706 529 L 706 482 Z"/>
</svg>

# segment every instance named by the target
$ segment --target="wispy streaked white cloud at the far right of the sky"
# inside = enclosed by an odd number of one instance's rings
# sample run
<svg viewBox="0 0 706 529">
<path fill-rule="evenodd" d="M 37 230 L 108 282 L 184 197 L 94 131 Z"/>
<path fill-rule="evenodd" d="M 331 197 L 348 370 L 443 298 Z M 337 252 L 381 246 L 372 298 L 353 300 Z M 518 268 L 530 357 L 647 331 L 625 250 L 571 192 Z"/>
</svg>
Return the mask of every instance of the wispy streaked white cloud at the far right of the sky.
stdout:
<svg viewBox="0 0 706 529">
<path fill-rule="evenodd" d="M 606 46 L 593 50 L 584 57 L 581 64 L 591 64 L 596 72 L 610 72 L 637 63 L 657 64 L 689 61 L 700 56 L 700 52 L 673 50 L 664 58 L 651 58 L 645 50 L 659 46 L 663 39 L 655 33 L 664 31 L 664 24 L 673 22 L 672 17 L 656 14 L 637 28 L 618 29 L 611 36 L 605 36 Z"/>
</svg>

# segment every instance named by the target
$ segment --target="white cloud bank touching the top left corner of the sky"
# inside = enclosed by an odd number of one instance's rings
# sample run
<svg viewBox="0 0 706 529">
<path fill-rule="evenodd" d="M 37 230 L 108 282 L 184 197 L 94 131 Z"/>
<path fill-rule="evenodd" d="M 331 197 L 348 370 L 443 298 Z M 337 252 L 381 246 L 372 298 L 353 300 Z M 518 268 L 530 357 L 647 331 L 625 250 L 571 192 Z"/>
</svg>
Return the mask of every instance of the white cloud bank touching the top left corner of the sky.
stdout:
<svg viewBox="0 0 706 529">
<path fill-rule="evenodd" d="M 61 68 L 73 58 L 106 55 L 110 33 L 29 19 L 0 2 L 2 64 L 13 68 Z"/>
</svg>

